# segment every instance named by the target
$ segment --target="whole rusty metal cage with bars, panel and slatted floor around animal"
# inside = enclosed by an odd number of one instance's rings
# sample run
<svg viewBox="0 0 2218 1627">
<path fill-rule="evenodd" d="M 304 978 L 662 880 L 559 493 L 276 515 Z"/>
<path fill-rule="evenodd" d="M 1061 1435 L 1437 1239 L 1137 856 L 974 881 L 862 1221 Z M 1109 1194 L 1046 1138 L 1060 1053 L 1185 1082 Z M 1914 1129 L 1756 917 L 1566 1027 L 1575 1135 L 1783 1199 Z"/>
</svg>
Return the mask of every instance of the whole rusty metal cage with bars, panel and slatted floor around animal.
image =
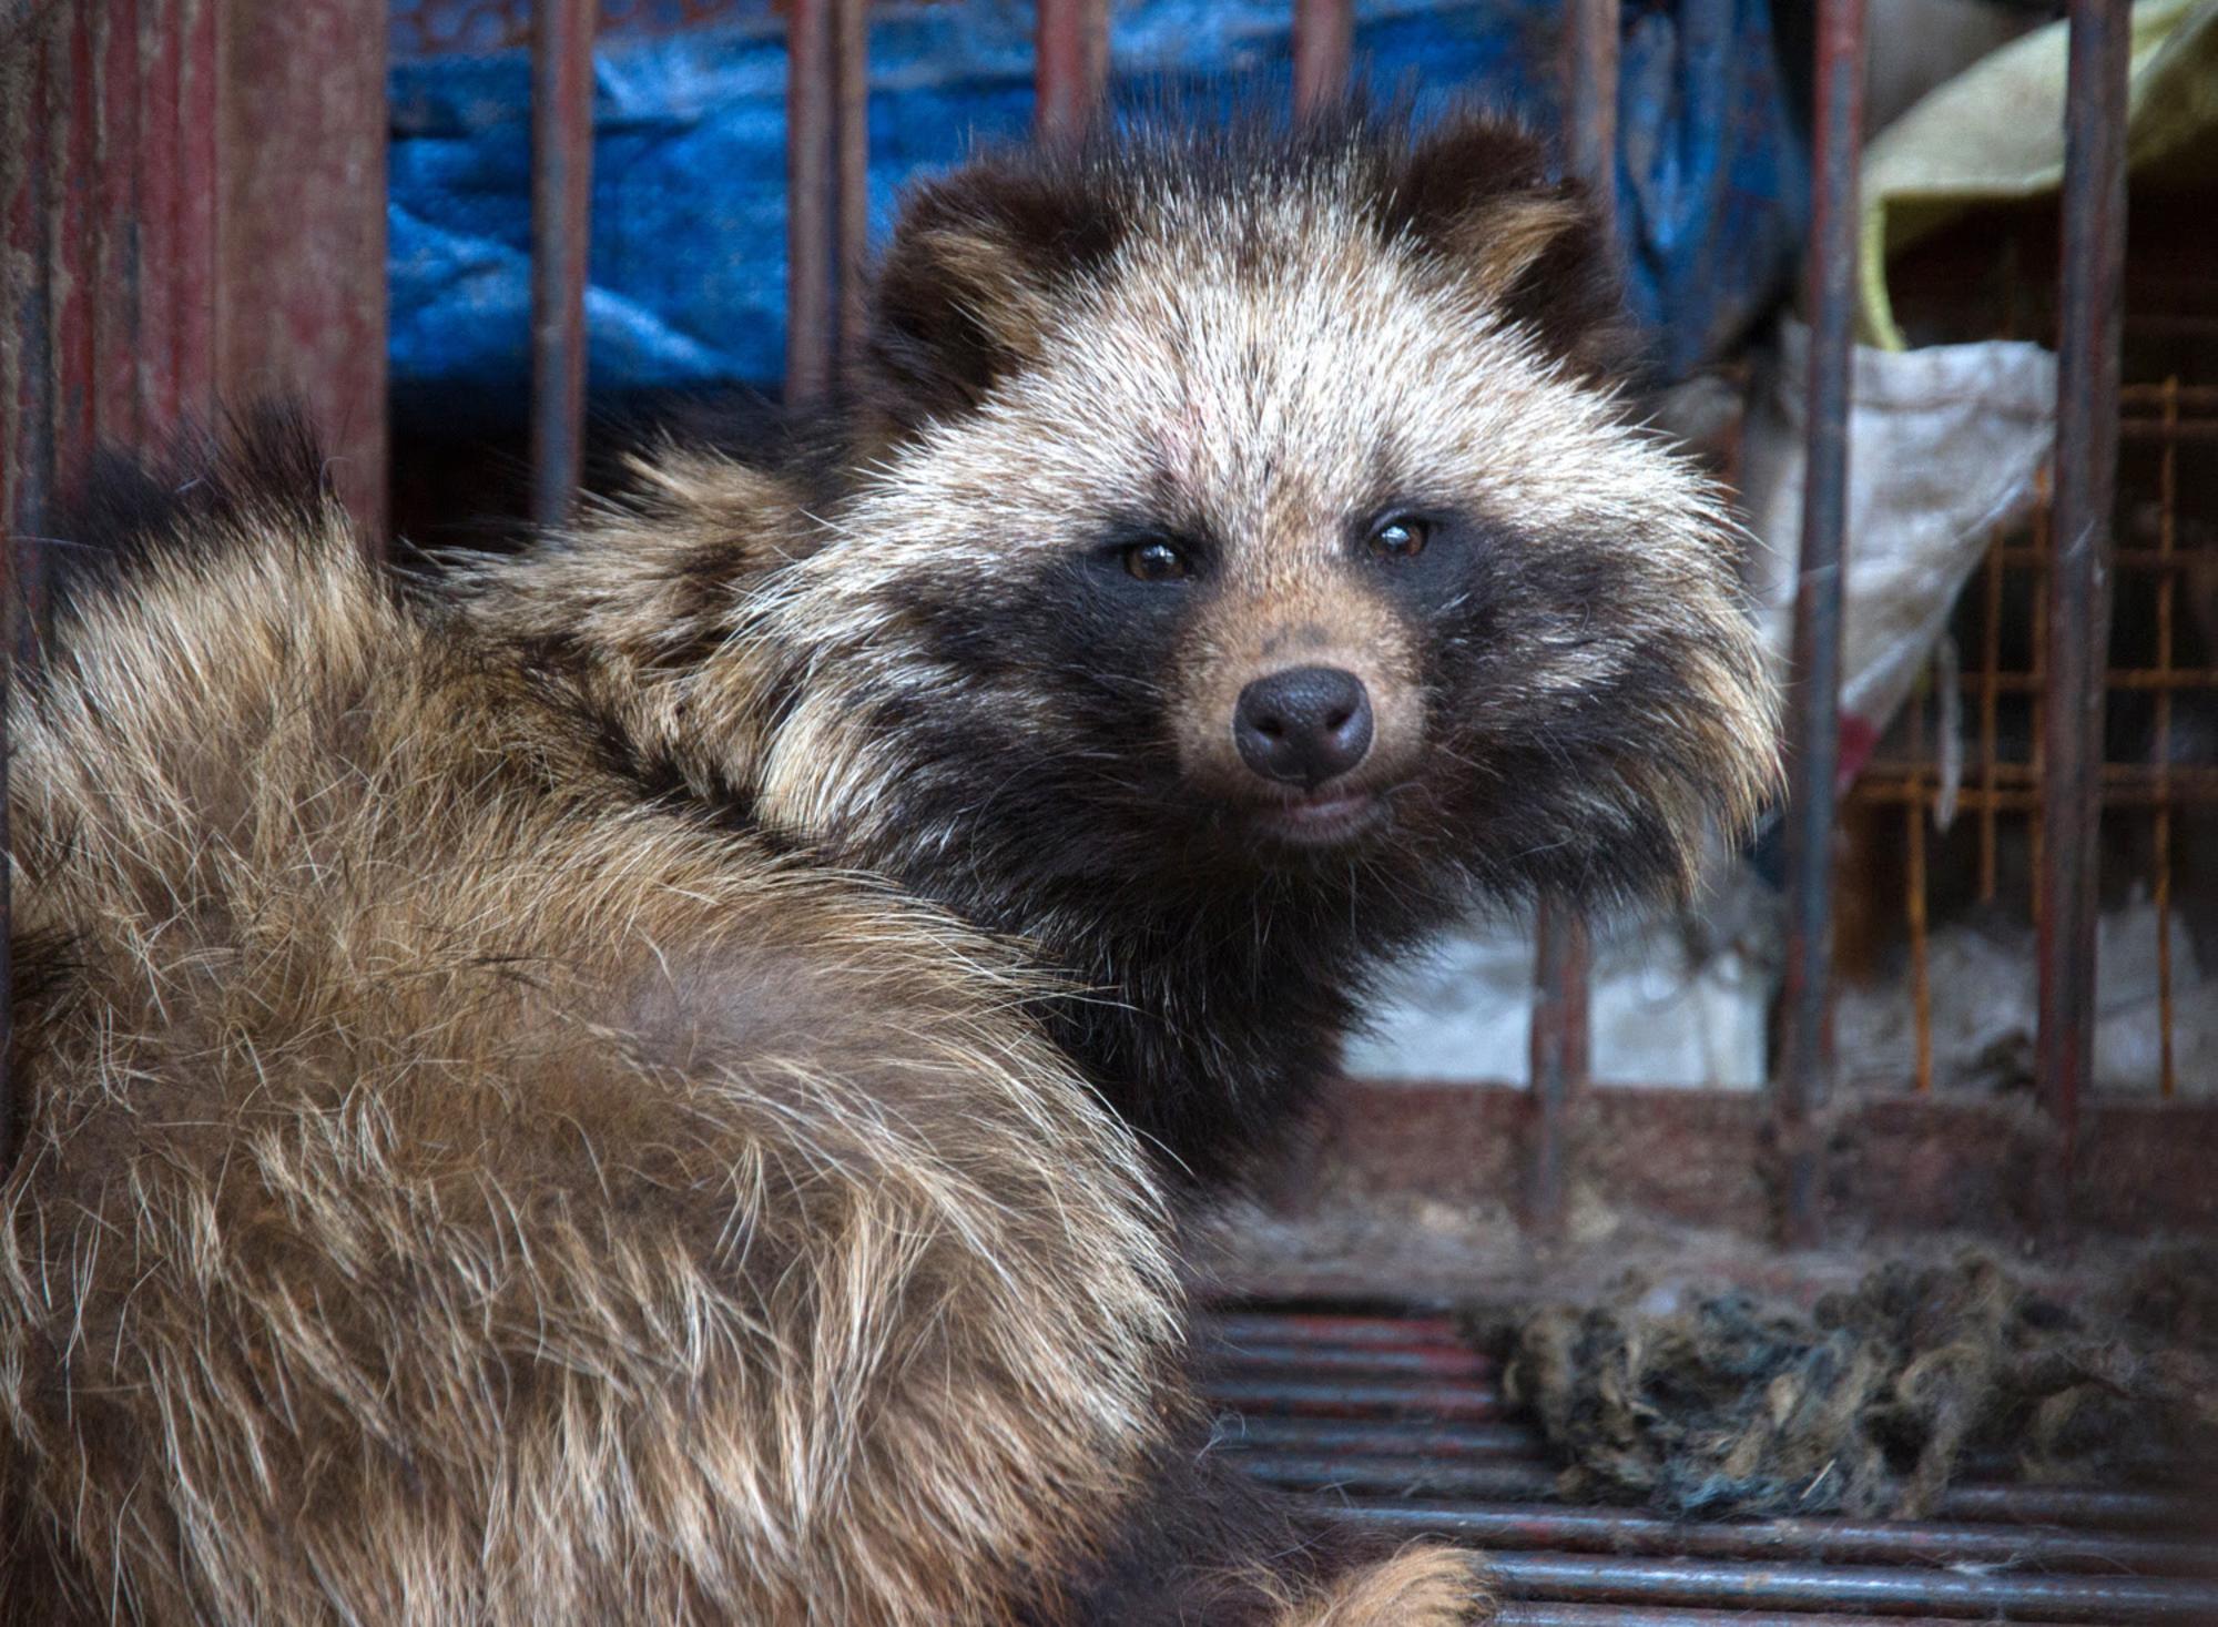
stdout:
<svg viewBox="0 0 2218 1627">
<path fill-rule="evenodd" d="M 1269 35 L 1300 106 L 1349 80 L 1357 20 L 1353 0 L 1295 0 L 1284 40 Z M 739 0 L 80 0 L 35 22 L 0 64 L 0 523 L 24 661 L 49 505 L 98 443 L 160 446 L 224 399 L 284 388 L 337 434 L 342 490 L 373 528 L 448 505 L 437 448 L 388 470 L 393 55 L 508 51 L 521 71 L 528 51 L 530 417 L 503 501 L 559 521 L 588 459 L 597 33 L 745 27 L 770 42 L 787 399 L 821 395 L 858 332 L 863 0 L 776 13 Z M 1085 124 L 1113 71 L 1107 0 L 1040 0 L 1029 27 L 1034 120 Z M 1564 162 L 1606 204 L 1626 27 L 1621 7 L 1575 0 L 1542 53 L 1561 73 Z M 1453 1314 L 1599 1295 L 1628 1268 L 1810 1299 L 1874 1259 L 1967 1239 L 2069 1297 L 2149 1239 L 2218 1232 L 2218 1033 L 2198 1004 L 2218 978 L 2209 193 L 2145 199 L 2136 184 L 2129 231 L 2131 16 L 2074 2 L 2058 206 L 1981 215 L 1894 275 L 1921 337 L 2054 344 L 2054 457 L 2029 512 L 1985 541 L 1907 705 L 1845 747 L 1865 29 L 1863 0 L 1821 0 L 1797 40 L 1810 51 L 1810 366 L 1781 982 L 1761 1088 L 1599 1084 L 1593 933 L 1544 904 L 1526 1077 L 1506 1082 L 1517 1068 L 1502 1062 L 1490 1079 L 1346 1079 L 1313 1148 L 1204 1250 L 1211 1394 L 1242 1461 L 1384 1529 L 1484 1547 L 1502 1618 L 1526 1627 L 2218 1620 L 2218 1498 L 2191 1481 L 1974 1472 L 1916 1521 L 1690 1523 L 1566 1501 L 1499 1363 Z M 1728 423 L 1728 477 L 1734 448 Z M 1843 754 L 1865 749 L 1843 776 Z M 2118 995 L 2103 964 L 2123 960 L 2145 975 Z M 1998 1046 L 2005 1006 L 2018 1020 Z"/>
</svg>

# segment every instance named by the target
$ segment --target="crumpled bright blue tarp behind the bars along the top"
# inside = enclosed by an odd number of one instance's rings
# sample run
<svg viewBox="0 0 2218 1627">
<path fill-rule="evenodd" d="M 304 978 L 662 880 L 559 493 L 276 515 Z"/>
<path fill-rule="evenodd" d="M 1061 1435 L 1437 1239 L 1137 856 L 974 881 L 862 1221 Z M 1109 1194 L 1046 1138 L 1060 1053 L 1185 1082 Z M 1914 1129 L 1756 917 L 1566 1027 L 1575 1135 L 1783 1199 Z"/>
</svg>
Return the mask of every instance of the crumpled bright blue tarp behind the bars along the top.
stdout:
<svg viewBox="0 0 2218 1627">
<path fill-rule="evenodd" d="M 397 0 L 397 9 L 421 0 Z M 1286 0 L 1131 0 L 1111 95 L 1231 106 L 1284 95 Z M 1357 7 L 1360 73 L 1420 115 L 1457 98 L 1557 117 L 1559 7 Z M 872 9 L 869 202 L 1031 120 L 1031 7 Z M 1808 211 L 1763 0 L 1628 7 L 1619 199 L 1630 297 L 1666 377 L 1721 350 L 1794 262 Z M 594 58 L 590 377 L 597 395 L 774 383 L 785 317 L 785 51 L 776 18 L 603 38 Z M 512 421 L 526 399 L 528 64 L 393 66 L 393 388 L 404 417 Z"/>
</svg>

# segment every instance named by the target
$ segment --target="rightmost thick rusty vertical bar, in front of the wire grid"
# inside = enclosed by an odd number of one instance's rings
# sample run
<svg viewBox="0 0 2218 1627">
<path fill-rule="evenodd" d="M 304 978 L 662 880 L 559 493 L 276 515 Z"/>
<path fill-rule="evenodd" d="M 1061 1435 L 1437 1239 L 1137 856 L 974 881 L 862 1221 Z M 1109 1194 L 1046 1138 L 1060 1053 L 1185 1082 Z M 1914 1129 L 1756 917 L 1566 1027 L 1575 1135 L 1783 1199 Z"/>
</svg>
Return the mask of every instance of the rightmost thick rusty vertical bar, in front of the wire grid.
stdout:
<svg viewBox="0 0 2218 1627">
<path fill-rule="evenodd" d="M 2129 44 L 2125 0 L 2074 0 L 2056 341 L 2056 561 L 2047 583 L 2045 838 L 2034 949 L 2041 986 L 2034 1086 L 2056 1128 L 2052 1175 L 2065 1186 L 2078 1150 L 2080 1093 L 2094 1073 L 2100 674 L 2109 649 L 2109 510 L 2118 472 Z"/>
</svg>

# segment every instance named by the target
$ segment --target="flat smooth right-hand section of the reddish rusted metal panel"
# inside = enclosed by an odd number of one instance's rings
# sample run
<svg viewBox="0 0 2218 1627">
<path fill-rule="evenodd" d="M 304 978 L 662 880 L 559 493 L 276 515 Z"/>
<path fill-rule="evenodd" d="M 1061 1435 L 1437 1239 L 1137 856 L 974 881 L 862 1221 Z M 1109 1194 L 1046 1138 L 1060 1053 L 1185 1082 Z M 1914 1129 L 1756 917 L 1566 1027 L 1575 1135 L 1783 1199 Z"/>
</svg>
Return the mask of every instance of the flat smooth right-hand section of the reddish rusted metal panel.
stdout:
<svg viewBox="0 0 2218 1627">
<path fill-rule="evenodd" d="M 217 0 L 215 377 L 299 401 L 339 497 L 386 521 L 386 9 Z"/>
</svg>

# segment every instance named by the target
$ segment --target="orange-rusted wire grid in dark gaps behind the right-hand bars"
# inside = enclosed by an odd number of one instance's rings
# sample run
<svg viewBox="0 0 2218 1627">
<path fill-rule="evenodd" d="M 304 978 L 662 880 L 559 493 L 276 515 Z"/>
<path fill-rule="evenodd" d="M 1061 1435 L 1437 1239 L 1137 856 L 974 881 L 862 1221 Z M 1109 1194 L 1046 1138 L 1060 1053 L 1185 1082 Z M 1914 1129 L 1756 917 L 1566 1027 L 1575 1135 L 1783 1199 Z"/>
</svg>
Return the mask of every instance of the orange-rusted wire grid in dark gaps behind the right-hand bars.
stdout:
<svg viewBox="0 0 2218 1627">
<path fill-rule="evenodd" d="M 2058 301 L 2052 235 L 2054 217 L 2034 211 L 1943 239 L 1905 270 L 1905 304 L 1923 313 L 1927 337 L 2047 339 Z M 2202 457 L 2218 439 L 2218 277 L 2180 239 L 2167 211 L 2151 211 L 2134 242 L 2145 268 L 2125 279 L 2116 614 L 2094 765 L 2105 898 L 2140 898 L 2156 940 L 2156 1046 L 2149 1077 L 2127 1084 L 2165 1099 L 2207 1084 L 2183 1073 L 2180 1002 L 2209 989 L 2176 964 L 2174 938 L 2183 913 L 2196 913 L 2198 864 L 2218 838 L 2218 488 Z M 2041 927 L 2049 497 L 2043 483 L 2032 514 L 1990 539 L 1952 616 L 1956 658 L 1930 663 L 1845 807 L 1852 840 L 1837 884 L 1843 909 L 1868 915 L 1874 949 L 1885 940 L 1903 951 L 1905 1064 L 1921 1093 L 1936 1084 L 1936 1011 L 1967 997 L 1934 986 L 1936 927 L 1970 909 Z M 2207 949 L 2209 922 L 2189 927 Z"/>
</svg>

